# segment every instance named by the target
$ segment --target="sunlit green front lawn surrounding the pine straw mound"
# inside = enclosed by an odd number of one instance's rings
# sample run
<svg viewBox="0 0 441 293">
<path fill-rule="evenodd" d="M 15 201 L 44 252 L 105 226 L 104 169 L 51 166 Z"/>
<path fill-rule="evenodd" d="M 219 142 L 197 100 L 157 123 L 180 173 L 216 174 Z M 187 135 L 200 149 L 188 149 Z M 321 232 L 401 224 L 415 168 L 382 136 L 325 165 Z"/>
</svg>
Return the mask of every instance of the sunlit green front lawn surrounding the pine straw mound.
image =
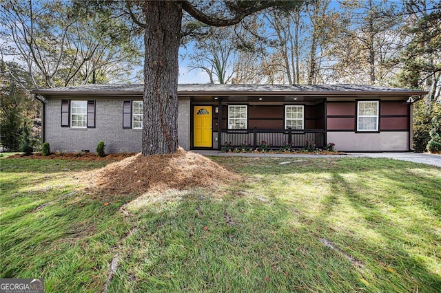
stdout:
<svg viewBox="0 0 441 293">
<path fill-rule="evenodd" d="M 440 168 L 212 160 L 243 181 L 100 193 L 79 178 L 108 161 L 1 159 L 0 277 L 46 292 L 440 292 Z"/>
</svg>

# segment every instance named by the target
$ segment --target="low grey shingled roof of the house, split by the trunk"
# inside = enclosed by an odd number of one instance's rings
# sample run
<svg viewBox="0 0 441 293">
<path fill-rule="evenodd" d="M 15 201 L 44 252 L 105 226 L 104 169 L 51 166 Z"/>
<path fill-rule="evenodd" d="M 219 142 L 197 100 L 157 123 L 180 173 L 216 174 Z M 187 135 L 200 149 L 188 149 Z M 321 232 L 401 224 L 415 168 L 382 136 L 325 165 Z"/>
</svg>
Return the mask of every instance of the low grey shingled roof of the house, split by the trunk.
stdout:
<svg viewBox="0 0 441 293">
<path fill-rule="evenodd" d="M 144 85 L 79 85 L 34 89 L 41 96 L 143 96 Z M 371 85 L 180 84 L 178 96 L 420 96 L 427 91 Z"/>
</svg>

